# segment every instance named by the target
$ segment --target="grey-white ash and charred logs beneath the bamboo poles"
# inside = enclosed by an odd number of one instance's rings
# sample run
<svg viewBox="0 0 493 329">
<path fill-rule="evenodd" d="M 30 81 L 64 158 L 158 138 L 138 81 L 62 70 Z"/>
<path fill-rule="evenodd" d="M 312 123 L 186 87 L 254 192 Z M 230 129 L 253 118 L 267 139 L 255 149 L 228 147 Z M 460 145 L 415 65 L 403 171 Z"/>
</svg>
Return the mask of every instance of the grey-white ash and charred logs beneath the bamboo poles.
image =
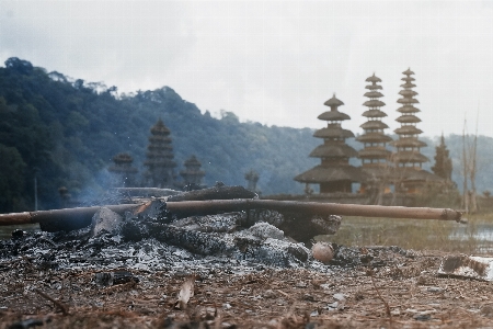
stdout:
<svg viewBox="0 0 493 329">
<path fill-rule="evenodd" d="M 285 237 L 267 222 L 249 225 L 245 212 L 169 219 L 157 216 L 161 202 L 147 213 L 121 216 L 102 207 L 89 227 L 72 231 L 14 231 L 0 241 L 0 266 L 28 259 L 39 270 L 165 270 L 200 273 L 222 269 L 244 273 L 265 268 L 306 268 L 331 272 L 337 266 L 385 265 L 381 253 L 409 252 L 397 248 L 358 248 L 332 245 L 328 264 L 314 260 L 303 243 Z M 275 216 L 278 220 L 279 214 Z"/>
</svg>

